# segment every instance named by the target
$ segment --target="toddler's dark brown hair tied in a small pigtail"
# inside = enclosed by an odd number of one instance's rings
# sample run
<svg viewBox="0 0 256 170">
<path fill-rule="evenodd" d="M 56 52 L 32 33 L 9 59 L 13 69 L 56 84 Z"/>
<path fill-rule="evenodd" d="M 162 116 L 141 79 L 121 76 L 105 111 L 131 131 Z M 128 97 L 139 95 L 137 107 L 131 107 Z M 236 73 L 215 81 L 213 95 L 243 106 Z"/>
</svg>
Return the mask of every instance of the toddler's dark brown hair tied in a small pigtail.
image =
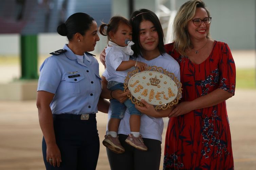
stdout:
<svg viewBox="0 0 256 170">
<path fill-rule="evenodd" d="M 99 33 L 104 36 L 108 36 L 108 40 L 110 41 L 109 32 L 112 31 L 113 33 L 116 33 L 120 23 L 127 24 L 129 27 L 131 27 L 130 22 L 126 18 L 114 16 L 110 19 L 108 24 L 102 22 L 102 25 L 99 26 Z M 108 27 L 107 30 L 104 28 L 105 26 Z"/>
</svg>

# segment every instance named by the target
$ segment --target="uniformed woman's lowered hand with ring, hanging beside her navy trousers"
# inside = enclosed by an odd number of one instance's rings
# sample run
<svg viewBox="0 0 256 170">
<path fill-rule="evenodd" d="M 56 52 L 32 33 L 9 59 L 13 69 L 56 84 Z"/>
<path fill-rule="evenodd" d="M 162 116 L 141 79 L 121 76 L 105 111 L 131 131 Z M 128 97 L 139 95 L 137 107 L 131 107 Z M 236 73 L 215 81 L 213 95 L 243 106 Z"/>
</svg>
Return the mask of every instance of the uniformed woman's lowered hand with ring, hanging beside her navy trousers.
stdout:
<svg viewBox="0 0 256 170">
<path fill-rule="evenodd" d="M 60 150 L 57 144 L 47 145 L 46 160 L 54 167 L 56 165 L 57 167 L 60 166 L 61 156 L 60 156 Z"/>
</svg>

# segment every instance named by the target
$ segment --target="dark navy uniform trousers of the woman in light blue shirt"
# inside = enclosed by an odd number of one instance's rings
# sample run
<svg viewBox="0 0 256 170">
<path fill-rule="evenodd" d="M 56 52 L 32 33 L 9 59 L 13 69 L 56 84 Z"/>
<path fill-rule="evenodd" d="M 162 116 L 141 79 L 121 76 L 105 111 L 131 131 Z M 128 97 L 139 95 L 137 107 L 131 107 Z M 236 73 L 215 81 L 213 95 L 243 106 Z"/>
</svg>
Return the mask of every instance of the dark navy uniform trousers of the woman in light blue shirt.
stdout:
<svg viewBox="0 0 256 170">
<path fill-rule="evenodd" d="M 43 160 L 47 170 L 95 170 L 99 155 L 99 137 L 96 114 L 89 120 L 80 115 L 53 115 L 56 143 L 61 154 L 60 167 L 46 161 L 46 143 L 43 138 Z"/>
</svg>

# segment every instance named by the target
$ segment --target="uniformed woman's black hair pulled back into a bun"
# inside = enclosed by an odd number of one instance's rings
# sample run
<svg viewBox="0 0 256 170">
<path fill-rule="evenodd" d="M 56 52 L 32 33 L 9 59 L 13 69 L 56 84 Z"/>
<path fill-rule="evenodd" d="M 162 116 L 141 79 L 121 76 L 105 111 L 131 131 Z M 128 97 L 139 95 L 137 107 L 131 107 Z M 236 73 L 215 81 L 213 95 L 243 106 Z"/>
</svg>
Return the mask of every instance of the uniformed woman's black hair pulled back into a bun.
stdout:
<svg viewBox="0 0 256 170">
<path fill-rule="evenodd" d="M 67 36 L 70 41 L 75 33 L 84 35 L 90 28 L 94 19 L 85 13 L 72 14 L 65 23 L 57 27 L 57 32 L 62 36 Z"/>
</svg>

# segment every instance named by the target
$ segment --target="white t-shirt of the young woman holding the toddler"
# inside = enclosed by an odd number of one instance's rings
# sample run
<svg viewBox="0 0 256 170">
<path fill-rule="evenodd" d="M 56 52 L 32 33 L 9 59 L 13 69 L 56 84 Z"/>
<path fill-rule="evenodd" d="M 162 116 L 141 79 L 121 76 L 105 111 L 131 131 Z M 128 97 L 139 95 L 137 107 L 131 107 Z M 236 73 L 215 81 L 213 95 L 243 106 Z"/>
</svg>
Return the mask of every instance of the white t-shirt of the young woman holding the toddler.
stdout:
<svg viewBox="0 0 256 170">
<path fill-rule="evenodd" d="M 168 72 L 173 73 L 180 80 L 180 66 L 178 62 L 172 58 L 169 54 L 164 53 L 152 60 L 146 60 L 142 57 L 136 58 L 136 60 L 146 63 L 148 66 L 157 66 L 166 69 Z M 108 76 L 107 70 L 102 74 L 103 76 Z M 108 117 L 110 119 L 111 108 L 108 111 Z M 124 118 L 121 120 L 117 134 L 128 135 L 130 133 L 129 124 L 130 114 L 126 110 Z M 147 115 L 141 116 L 141 127 L 140 134 L 143 138 L 155 139 L 162 142 L 162 133 L 164 128 L 163 118 L 154 118 Z"/>
</svg>

